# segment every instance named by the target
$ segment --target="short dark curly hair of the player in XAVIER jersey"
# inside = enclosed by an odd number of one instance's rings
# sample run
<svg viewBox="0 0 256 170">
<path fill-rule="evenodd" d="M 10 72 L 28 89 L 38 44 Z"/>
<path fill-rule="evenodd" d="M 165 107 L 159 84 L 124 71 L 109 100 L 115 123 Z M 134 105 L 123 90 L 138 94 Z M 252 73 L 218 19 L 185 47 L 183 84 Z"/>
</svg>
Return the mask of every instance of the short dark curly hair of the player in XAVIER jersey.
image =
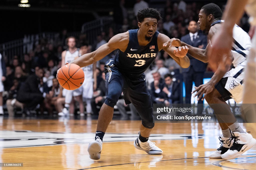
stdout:
<svg viewBox="0 0 256 170">
<path fill-rule="evenodd" d="M 144 18 L 155 18 L 157 21 L 162 20 L 161 14 L 155 8 L 143 8 L 138 11 L 137 20 L 143 22 Z"/>
</svg>

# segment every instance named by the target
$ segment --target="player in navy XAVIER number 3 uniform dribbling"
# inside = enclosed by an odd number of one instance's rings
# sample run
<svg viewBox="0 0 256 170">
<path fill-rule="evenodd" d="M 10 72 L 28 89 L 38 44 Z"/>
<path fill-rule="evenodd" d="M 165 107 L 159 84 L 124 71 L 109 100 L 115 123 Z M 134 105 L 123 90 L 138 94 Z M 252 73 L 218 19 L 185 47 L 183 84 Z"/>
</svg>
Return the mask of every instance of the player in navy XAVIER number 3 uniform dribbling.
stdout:
<svg viewBox="0 0 256 170">
<path fill-rule="evenodd" d="M 148 154 L 162 154 L 162 150 L 148 140 L 154 127 L 154 117 L 143 72 L 154 62 L 161 49 L 182 68 L 189 67 L 190 62 L 186 56 L 188 51 L 186 46 L 179 47 L 178 50 L 175 47 L 163 47 L 163 43 L 170 38 L 156 31 L 157 21 L 161 19 L 156 9 L 144 8 L 137 14 L 139 29 L 117 34 L 97 50 L 71 62 L 85 67 L 118 49 L 115 58 L 110 59 L 105 65 L 108 96 L 99 113 L 95 140 L 88 146 L 91 159 L 100 159 L 102 139 L 112 120 L 114 106 L 122 91 L 125 103 L 133 103 L 142 119 L 139 137 L 135 140 L 134 146 Z"/>
</svg>

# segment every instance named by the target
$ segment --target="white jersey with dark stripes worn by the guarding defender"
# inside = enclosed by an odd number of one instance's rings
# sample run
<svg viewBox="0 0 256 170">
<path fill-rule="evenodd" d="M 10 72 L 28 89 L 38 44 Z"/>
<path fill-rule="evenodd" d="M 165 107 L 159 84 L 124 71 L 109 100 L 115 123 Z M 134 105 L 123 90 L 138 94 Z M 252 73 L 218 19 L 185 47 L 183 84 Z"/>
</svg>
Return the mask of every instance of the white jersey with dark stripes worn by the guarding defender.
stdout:
<svg viewBox="0 0 256 170">
<path fill-rule="evenodd" d="M 220 22 L 224 22 L 224 20 L 216 20 L 211 24 L 211 26 Z M 246 60 L 246 56 L 249 55 L 249 50 L 251 49 L 252 44 L 250 36 L 237 24 L 235 24 L 233 28 L 233 38 L 234 42 L 232 43 L 231 53 L 234 60 L 232 63 L 234 67 L 236 67 L 238 64 L 241 64 Z"/>
</svg>

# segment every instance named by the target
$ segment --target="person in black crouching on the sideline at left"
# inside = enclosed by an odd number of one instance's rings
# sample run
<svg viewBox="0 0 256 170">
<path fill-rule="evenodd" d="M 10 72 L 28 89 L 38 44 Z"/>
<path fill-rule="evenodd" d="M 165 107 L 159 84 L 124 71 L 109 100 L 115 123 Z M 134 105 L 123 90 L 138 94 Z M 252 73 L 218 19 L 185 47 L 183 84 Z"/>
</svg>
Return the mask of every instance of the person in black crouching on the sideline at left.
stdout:
<svg viewBox="0 0 256 170">
<path fill-rule="evenodd" d="M 24 104 L 24 113 L 27 115 L 30 115 L 30 110 L 34 110 L 46 96 L 46 93 L 43 93 L 43 76 L 44 70 L 39 68 L 35 71 L 35 74 L 28 76 L 27 80 L 19 88 L 17 100 Z"/>
</svg>

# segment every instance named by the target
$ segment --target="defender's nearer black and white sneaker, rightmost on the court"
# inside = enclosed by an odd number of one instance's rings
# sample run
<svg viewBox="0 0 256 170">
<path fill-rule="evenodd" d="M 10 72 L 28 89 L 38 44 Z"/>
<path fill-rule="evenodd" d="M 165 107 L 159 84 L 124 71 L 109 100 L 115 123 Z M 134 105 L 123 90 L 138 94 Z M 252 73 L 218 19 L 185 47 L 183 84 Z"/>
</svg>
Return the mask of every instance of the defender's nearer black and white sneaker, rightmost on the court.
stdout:
<svg viewBox="0 0 256 170">
<path fill-rule="evenodd" d="M 231 138 L 234 139 L 234 143 L 229 150 L 221 156 L 222 159 L 235 159 L 256 143 L 256 139 L 249 133 L 232 132 L 231 135 Z"/>
</svg>

